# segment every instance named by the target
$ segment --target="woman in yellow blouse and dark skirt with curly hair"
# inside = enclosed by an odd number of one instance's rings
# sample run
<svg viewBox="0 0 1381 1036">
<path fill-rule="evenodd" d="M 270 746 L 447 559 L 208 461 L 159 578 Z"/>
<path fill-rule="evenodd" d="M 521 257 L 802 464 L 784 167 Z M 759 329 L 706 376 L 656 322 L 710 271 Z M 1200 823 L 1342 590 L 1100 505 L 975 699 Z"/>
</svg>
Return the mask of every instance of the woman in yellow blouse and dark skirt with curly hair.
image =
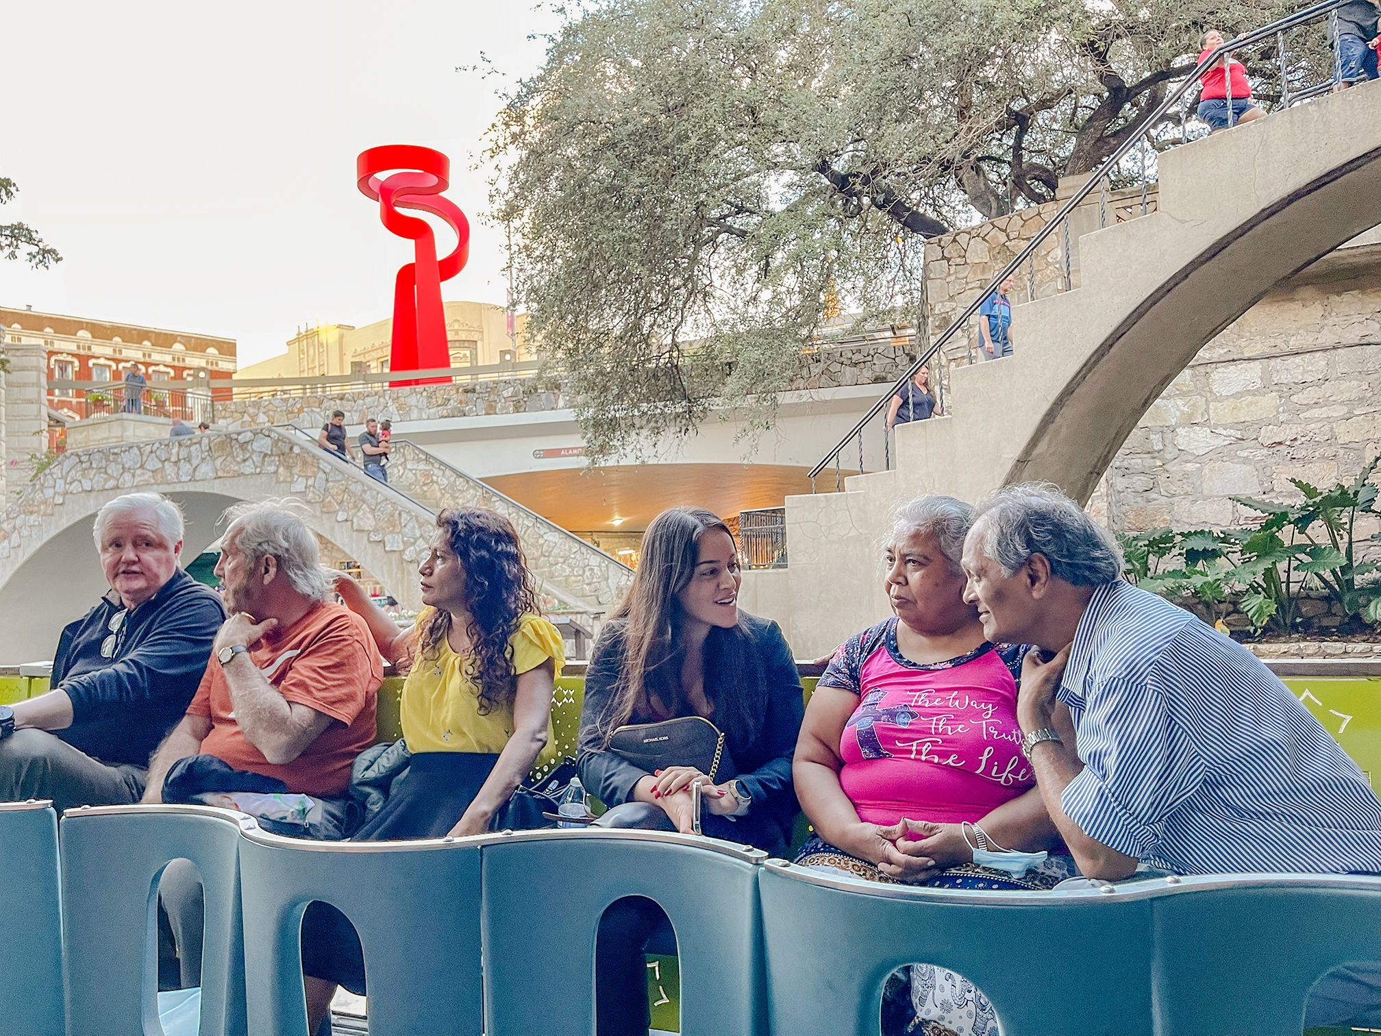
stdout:
<svg viewBox="0 0 1381 1036">
<path fill-rule="evenodd" d="M 423 611 L 409 629 L 348 576 L 336 591 L 363 616 L 378 651 L 407 671 L 400 700 L 407 768 L 355 841 L 483 834 L 497 823 L 551 732 L 565 664 L 557 627 L 539 615 L 518 533 L 483 508 L 449 508 L 418 568 Z M 336 908 L 302 920 L 308 1032 L 337 985 L 365 995 L 359 937 Z"/>
</svg>

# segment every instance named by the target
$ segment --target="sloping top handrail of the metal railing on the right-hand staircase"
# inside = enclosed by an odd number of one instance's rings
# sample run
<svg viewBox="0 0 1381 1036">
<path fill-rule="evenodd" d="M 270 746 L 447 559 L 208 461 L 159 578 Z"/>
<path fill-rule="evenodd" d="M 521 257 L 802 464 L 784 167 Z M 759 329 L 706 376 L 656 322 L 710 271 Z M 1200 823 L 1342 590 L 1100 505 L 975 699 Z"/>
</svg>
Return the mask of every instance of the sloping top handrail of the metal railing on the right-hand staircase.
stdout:
<svg viewBox="0 0 1381 1036">
<path fill-rule="evenodd" d="M 917 370 L 920 370 L 921 367 L 924 367 L 936 352 L 939 352 L 946 344 L 949 344 L 949 341 L 952 338 L 954 338 L 954 336 L 958 333 L 958 330 L 961 327 L 964 327 L 968 323 L 968 320 L 971 320 L 974 318 L 974 315 L 978 312 L 979 307 L 982 307 L 983 303 L 998 289 L 998 286 L 1003 283 L 1003 280 L 1005 280 L 1007 278 L 1012 276 L 1016 271 L 1019 271 L 1022 268 L 1022 265 L 1026 264 L 1027 260 L 1030 260 L 1033 262 L 1033 269 L 1034 269 L 1036 250 L 1045 242 L 1047 238 L 1050 238 L 1050 235 L 1055 233 L 1061 228 L 1063 228 L 1063 231 L 1066 233 L 1066 240 L 1065 240 L 1065 262 L 1066 262 L 1065 279 L 1066 279 L 1066 290 L 1068 290 L 1068 287 L 1069 287 L 1069 269 L 1068 269 L 1068 262 L 1069 262 L 1069 240 L 1068 240 L 1068 233 L 1069 233 L 1069 217 L 1070 217 L 1070 214 L 1074 211 L 1074 209 L 1079 207 L 1079 204 L 1085 198 L 1088 198 L 1088 195 L 1091 195 L 1094 192 L 1095 185 L 1099 185 L 1105 180 L 1108 180 L 1108 177 L 1117 169 L 1117 166 L 1121 163 L 1121 160 L 1124 157 L 1127 157 L 1127 155 L 1131 153 L 1132 148 L 1141 146 L 1141 144 L 1142 144 L 1142 141 L 1143 141 L 1143 138 L 1146 135 L 1145 131 L 1149 127 L 1155 126 L 1156 122 L 1159 122 L 1161 116 L 1164 116 L 1171 108 L 1175 106 L 1177 102 L 1179 102 L 1181 98 L 1184 98 L 1193 87 L 1196 87 L 1199 84 L 1199 81 L 1203 79 L 1204 72 L 1210 70 L 1219 61 L 1219 58 L 1222 58 L 1222 57 L 1225 57 L 1225 55 L 1228 55 L 1228 54 L 1230 54 L 1230 52 L 1233 52 L 1236 50 L 1242 50 L 1244 47 L 1250 47 L 1253 44 L 1258 44 L 1262 40 L 1271 39 L 1272 36 L 1277 36 L 1279 33 L 1284 33 L 1288 29 L 1294 29 L 1294 28 L 1297 28 L 1300 25 L 1304 25 L 1306 22 L 1312 22 L 1316 18 L 1322 18 L 1323 15 L 1327 15 L 1327 14 L 1330 14 L 1333 11 L 1337 11 L 1345 3 L 1348 3 L 1348 0 L 1323 0 L 1323 3 L 1313 4 L 1311 7 L 1306 7 L 1306 8 L 1301 10 L 1301 11 L 1295 11 L 1294 14 L 1286 15 L 1284 18 L 1280 18 L 1280 19 L 1277 19 L 1275 22 L 1271 22 L 1269 25 L 1264 25 L 1259 29 L 1253 29 L 1251 32 L 1244 33 L 1244 35 L 1242 35 L 1242 36 L 1239 36 L 1239 37 L 1236 37 L 1233 40 L 1228 40 L 1221 47 L 1218 47 L 1217 50 L 1214 50 L 1213 54 L 1210 54 L 1207 58 L 1204 58 L 1203 61 L 1200 61 L 1193 68 L 1193 70 L 1185 77 L 1185 80 L 1175 90 L 1172 90 L 1170 94 L 1167 94 L 1166 99 L 1161 101 L 1160 105 L 1157 105 L 1156 109 L 1142 120 L 1142 124 L 1139 127 L 1141 131 L 1137 133 L 1137 134 L 1134 134 L 1134 135 L 1127 137 L 1127 140 L 1124 140 L 1121 142 L 1121 145 L 1119 145 L 1119 148 L 1112 155 L 1109 155 L 1108 159 L 1105 159 L 1103 163 L 1097 170 L 1094 170 L 1092 173 L 1088 174 L 1088 180 L 1084 181 L 1084 185 L 1080 186 L 1070 196 L 1070 199 L 1068 202 L 1065 202 L 1065 204 L 1059 209 L 1059 211 L 1055 213 L 1054 218 L 1048 224 L 1045 224 L 1036 233 L 1036 236 L 1030 239 L 1030 242 L 1026 243 L 1026 247 L 1023 247 L 1011 262 L 1008 262 L 1005 267 L 1003 267 L 1003 269 L 997 274 L 997 276 L 994 276 L 989 282 L 987 287 L 985 287 L 978 294 L 978 297 L 972 303 L 969 303 L 968 308 L 964 309 L 964 312 L 945 330 L 945 333 L 940 334 L 940 337 L 936 338 L 935 343 L 928 349 L 925 349 L 925 352 L 921 356 L 918 356 L 916 359 L 916 362 L 911 363 L 910 367 L 906 369 L 906 373 L 902 374 L 896 381 L 892 383 L 892 385 L 891 385 L 891 388 L 888 388 L 887 394 L 882 395 L 881 398 L 878 398 L 878 401 L 876 403 L 873 403 L 871 407 L 869 407 L 869 412 L 866 414 L 863 414 L 863 417 L 859 419 L 859 421 L 849 430 L 849 432 L 834 445 L 834 449 L 831 449 L 829 453 L 826 453 L 824 457 L 813 468 L 811 468 L 811 471 L 807 474 L 807 478 L 811 479 L 811 490 L 815 492 L 815 478 L 822 471 L 824 471 L 824 468 L 827 468 L 831 463 L 837 464 L 838 459 L 840 459 L 840 454 L 844 452 L 844 448 L 848 446 L 855 438 L 859 439 L 859 457 L 860 457 L 860 466 L 859 467 L 862 470 L 862 453 L 863 453 L 863 438 L 862 437 L 863 437 L 863 430 L 867 428 L 869 423 L 874 417 L 877 417 L 882 412 L 884 407 L 888 406 L 888 403 L 892 399 L 894 394 L 896 394 L 898 391 L 900 391 L 902 388 L 906 387 L 906 383 L 911 378 L 911 376 Z M 1337 36 L 1335 29 L 1337 29 L 1337 25 L 1334 23 L 1334 37 Z M 1337 50 L 1337 41 L 1335 40 L 1334 40 L 1334 50 Z M 1228 69 L 1225 72 L 1225 75 L 1229 76 L 1228 81 L 1230 83 L 1230 69 Z M 1341 76 L 1341 73 L 1340 73 L 1340 69 L 1338 69 L 1338 62 L 1337 62 L 1337 55 L 1335 55 L 1334 57 L 1334 79 L 1327 86 L 1331 87 L 1333 84 L 1335 84 L 1340 80 L 1340 76 Z M 1295 104 L 1297 101 L 1304 101 L 1304 99 L 1306 99 L 1309 97 L 1317 95 L 1319 93 L 1323 93 L 1323 90 L 1317 88 L 1317 87 L 1309 87 L 1306 90 L 1301 90 L 1301 91 L 1298 91 L 1295 94 L 1290 94 L 1287 104 Z M 1229 105 L 1229 111 L 1230 111 L 1230 105 Z M 1143 181 L 1143 184 L 1145 184 L 1145 181 Z M 1142 207 L 1145 209 L 1145 200 L 1142 202 Z"/>
</svg>

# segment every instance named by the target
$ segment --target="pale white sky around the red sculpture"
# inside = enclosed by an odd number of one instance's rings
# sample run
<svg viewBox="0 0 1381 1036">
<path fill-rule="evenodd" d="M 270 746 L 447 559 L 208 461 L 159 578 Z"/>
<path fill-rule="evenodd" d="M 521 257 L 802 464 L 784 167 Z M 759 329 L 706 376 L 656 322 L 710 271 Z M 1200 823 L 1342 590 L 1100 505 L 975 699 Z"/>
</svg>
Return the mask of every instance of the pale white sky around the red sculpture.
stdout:
<svg viewBox="0 0 1381 1036">
<path fill-rule="evenodd" d="M 504 238 L 483 221 L 496 79 L 534 70 L 555 28 L 533 0 L 11 0 L 0 175 L 64 261 L 0 262 L 0 305 L 239 340 L 240 365 L 298 325 L 392 315 L 412 243 L 355 186 L 380 144 L 447 153 L 471 258 L 447 300 L 504 303 Z M 438 250 L 450 250 L 449 232 Z"/>
</svg>

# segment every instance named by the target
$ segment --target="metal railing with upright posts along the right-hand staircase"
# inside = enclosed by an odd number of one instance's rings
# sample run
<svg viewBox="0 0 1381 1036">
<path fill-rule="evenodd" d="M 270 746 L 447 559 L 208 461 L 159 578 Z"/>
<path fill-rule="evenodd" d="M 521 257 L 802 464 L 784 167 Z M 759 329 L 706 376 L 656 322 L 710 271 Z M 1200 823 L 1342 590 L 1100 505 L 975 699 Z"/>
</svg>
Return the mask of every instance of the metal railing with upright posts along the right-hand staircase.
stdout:
<svg viewBox="0 0 1381 1036">
<path fill-rule="evenodd" d="M 983 303 L 997 293 L 1001 283 L 1007 278 L 1016 278 L 1022 268 L 1026 268 L 1026 294 L 1027 298 L 1036 297 L 1036 260 L 1041 250 L 1041 246 L 1055 233 L 1061 235 L 1059 254 L 1061 254 L 1061 269 L 1058 271 L 1058 290 L 1069 291 L 1073 289 L 1073 265 L 1070 260 L 1070 215 L 1084 203 L 1090 195 L 1097 189 L 1099 192 L 1098 204 L 1098 228 L 1102 229 L 1108 227 L 1108 203 L 1109 196 L 1114 184 L 1114 177 L 1120 177 L 1123 171 L 1123 162 L 1132 152 L 1137 152 L 1137 160 L 1139 164 L 1139 202 L 1135 207 L 1139 209 L 1139 215 L 1146 215 L 1150 211 L 1153 200 L 1148 198 L 1148 186 L 1150 184 L 1150 166 L 1152 156 L 1159 155 L 1153 135 L 1157 130 L 1167 124 L 1167 116 L 1178 111 L 1179 122 L 1179 141 L 1168 142 L 1168 146 L 1178 146 L 1189 142 L 1188 135 L 1188 117 L 1189 117 L 1189 104 L 1192 91 L 1200 84 L 1204 73 L 1214 69 L 1214 66 L 1224 66 L 1224 61 L 1228 55 L 1235 51 L 1247 50 L 1257 47 L 1266 41 L 1273 41 L 1276 44 L 1276 64 L 1280 70 L 1280 106 L 1287 108 L 1290 105 L 1298 104 L 1301 101 L 1308 101 L 1309 98 L 1319 97 L 1322 94 L 1331 93 L 1338 88 L 1342 81 L 1342 61 L 1341 48 L 1338 47 L 1338 8 L 1342 7 L 1348 0 L 1323 0 L 1323 3 L 1313 4 L 1291 15 L 1280 18 L 1269 25 L 1264 25 L 1259 29 L 1253 29 L 1251 32 L 1243 33 L 1242 36 L 1228 40 L 1218 48 L 1215 48 L 1208 57 L 1200 61 L 1193 70 L 1185 76 L 1185 79 L 1171 90 L 1166 98 L 1150 112 L 1139 127 L 1138 133 L 1130 134 L 1117 149 L 1109 155 L 1103 163 L 1094 170 L 1083 185 L 1061 206 L 1059 211 L 1047 222 L 1027 243 L 1016 253 L 1016 256 L 997 272 L 997 275 L 987 283 L 982 291 L 974 298 L 972 303 L 950 323 L 950 326 L 940 334 L 931 345 L 917 356 L 916 362 L 911 363 L 906 372 L 896 378 L 881 395 L 877 402 L 869 407 L 867 413 L 834 445 L 834 448 L 824 454 L 824 457 L 808 472 L 811 479 L 811 492 L 816 492 L 816 478 L 829 467 L 834 467 L 834 489 L 836 492 L 844 488 L 844 453 L 849 452 L 849 460 L 852 460 L 852 446 L 858 445 L 858 470 L 863 472 L 865 467 L 865 442 L 863 432 L 867 431 L 870 424 L 882 414 L 892 396 L 902 391 L 911 377 L 924 367 L 931 359 L 950 344 L 961 332 L 967 333 L 969 320 L 978 314 Z M 1322 18 L 1329 19 L 1329 40 L 1333 47 L 1333 76 L 1320 83 L 1313 83 L 1304 88 L 1293 90 L 1290 88 L 1290 68 L 1286 57 L 1286 33 L 1291 29 L 1297 29 L 1301 25 L 1308 25 L 1316 22 Z M 1235 124 L 1233 109 L 1232 109 L 1232 73 L 1229 68 L 1224 68 L 1224 86 L 1226 87 L 1226 102 L 1228 102 L 1228 126 Z M 1236 98 L 1239 101 L 1246 98 Z M 1170 124 L 1174 124 L 1174 117 L 1170 119 Z M 1166 144 L 1166 141 L 1161 141 Z M 1126 209 L 1126 198 L 1120 199 L 1123 207 Z M 882 456 L 884 466 L 891 466 L 891 443 L 889 443 L 891 428 L 884 423 L 882 427 Z"/>
</svg>

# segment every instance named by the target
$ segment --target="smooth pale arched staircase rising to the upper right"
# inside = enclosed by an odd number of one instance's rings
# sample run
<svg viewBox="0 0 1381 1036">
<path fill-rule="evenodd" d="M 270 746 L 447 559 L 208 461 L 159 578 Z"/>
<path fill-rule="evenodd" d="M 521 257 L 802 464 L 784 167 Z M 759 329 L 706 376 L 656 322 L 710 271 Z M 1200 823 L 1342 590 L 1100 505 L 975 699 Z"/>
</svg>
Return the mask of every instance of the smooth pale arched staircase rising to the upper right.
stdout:
<svg viewBox="0 0 1381 1036">
<path fill-rule="evenodd" d="M 954 369 L 952 416 L 900 425 L 894 470 L 848 478 L 842 493 L 787 497 L 790 568 L 775 597 L 790 601 L 798 655 L 822 653 L 885 612 L 871 576 L 899 500 L 975 501 L 1050 481 L 1087 501 L 1207 341 L 1381 224 L 1381 87 L 1174 148 L 1159 169 L 1157 210 L 1083 235 L 1074 290 L 1014 305 L 1015 355 Z"/>
</svg>

